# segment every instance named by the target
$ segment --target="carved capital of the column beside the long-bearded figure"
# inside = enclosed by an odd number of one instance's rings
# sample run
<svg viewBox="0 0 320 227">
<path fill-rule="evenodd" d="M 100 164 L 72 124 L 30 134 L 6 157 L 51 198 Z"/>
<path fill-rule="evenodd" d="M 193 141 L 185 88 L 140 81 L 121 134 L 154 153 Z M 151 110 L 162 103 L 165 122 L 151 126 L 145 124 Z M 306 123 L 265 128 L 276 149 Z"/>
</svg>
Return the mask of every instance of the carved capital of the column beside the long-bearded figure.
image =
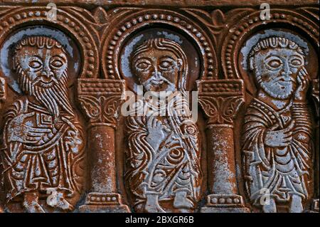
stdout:
<svg viewBox="0 0 320 227">
<path fill-rule="evenodd" d="M 124 80 L 78 79 L 78 100 L 91 126 L 117 126 L 124 90 Z"/>
</svg>

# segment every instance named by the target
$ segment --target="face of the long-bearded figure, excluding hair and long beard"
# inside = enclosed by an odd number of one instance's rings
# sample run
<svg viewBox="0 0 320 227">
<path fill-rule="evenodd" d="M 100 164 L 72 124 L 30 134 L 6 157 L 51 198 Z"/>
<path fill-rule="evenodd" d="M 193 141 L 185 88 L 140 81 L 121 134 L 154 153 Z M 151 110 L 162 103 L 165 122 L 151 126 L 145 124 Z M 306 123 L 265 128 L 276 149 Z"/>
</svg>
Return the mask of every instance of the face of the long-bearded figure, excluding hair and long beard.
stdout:
<svg viewBox="0 0 320 227">
<path fill-rule="evenodd" d="M 67 56 L 60 48 L 27 46 L 18 51 L 17 63 L 33 85 L 50 88 L 58 83 L 68 67 Z"/>
</svg>

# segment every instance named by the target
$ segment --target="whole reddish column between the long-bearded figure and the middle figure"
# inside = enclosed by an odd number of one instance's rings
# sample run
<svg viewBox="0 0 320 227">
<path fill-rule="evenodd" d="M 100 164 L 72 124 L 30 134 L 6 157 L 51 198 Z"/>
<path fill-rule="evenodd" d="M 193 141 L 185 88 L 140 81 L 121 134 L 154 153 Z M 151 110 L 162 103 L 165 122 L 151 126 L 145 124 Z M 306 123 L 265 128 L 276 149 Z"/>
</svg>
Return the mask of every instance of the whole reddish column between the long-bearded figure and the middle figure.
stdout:
<svg viewBox="0 0 320 227">
<path fill-rule="evenodd" d="M 78 99 L 88 117 L 90 193 L 81 212 L 129 212 L 117 193 L 114 131 L 124 92 L 123 80 L 80 79 Z"/>
</svg>

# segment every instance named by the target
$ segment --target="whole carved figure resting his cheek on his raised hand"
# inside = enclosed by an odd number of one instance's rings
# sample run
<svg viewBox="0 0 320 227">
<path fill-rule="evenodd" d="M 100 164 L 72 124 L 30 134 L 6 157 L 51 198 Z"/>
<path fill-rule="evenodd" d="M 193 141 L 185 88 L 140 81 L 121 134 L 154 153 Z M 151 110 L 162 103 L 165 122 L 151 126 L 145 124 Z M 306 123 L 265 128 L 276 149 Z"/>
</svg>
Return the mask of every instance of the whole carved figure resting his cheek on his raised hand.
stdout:
<svg viewBox="0 0 320 227">
<path fill-rule="evenodd" d="M 250 52 L 257 96 L 245 115 L 245 185 L 254 205 L 304 211 L 311 181 L 311 118 L 306 53 L 288 38 L 260 40 Z"/>
</svg>

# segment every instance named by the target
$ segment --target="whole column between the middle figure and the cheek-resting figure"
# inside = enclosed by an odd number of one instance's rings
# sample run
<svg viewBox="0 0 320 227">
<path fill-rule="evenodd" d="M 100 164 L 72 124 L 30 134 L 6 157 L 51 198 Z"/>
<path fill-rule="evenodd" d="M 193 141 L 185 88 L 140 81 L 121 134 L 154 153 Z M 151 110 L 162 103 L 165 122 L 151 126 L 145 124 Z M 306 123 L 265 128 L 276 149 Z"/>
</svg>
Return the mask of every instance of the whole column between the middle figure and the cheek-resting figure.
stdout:
<svg viewBox="0 0 320 227">
<path fill-rule="evenodd" d="M 198 101 L 208 117 L 208 189 L 201 212 L 248 212 L 238 194 L 233 119 L 244 102 L 242 80 L 198 80 Z"/>
</svg>

